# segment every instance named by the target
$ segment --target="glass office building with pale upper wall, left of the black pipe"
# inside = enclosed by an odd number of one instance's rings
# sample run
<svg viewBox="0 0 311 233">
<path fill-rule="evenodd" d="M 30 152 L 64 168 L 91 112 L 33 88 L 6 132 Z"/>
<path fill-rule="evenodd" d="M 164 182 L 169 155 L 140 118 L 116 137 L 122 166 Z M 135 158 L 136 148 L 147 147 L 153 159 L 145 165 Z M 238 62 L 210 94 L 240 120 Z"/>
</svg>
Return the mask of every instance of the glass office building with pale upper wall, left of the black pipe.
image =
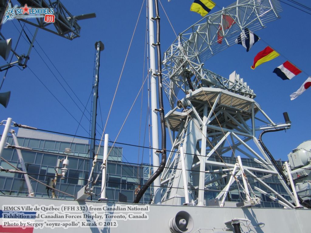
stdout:
<svg viewBox="0 0 311 233">
<path fill-rule="evenodd" d="M 71 148 L 68 154 L 69 166 L 64 179 L 58 178 L 56 189 L 68 194 L 76 194 L 84 185 L 87 184 L 90 170 L 89 144 L 88 140 L 73 137 L 61 136 L 56 134 L 37 132 L 28 129 L 19 129 L 18 144 L 23 147 L 32 148 L 31 151 L 22 150 L 22 156 L 29 176 L 34 177 L 44 183 L 55 177 L 55 167 L 60 159 L 66 158 L 65 148 Z M 12 137 L 8 137 L 7 143 L 14 145 Z M 113 147 L 108 158 L 107 166 L 107 188 L 106 196 L 109 201 L 118 201 L 119 193 L 127 197 L 128 202 L 134 199 L 134 191 L 138 184 L 145 183 L 148 179 L 148 169 L 144 166 L 133 166 L 122 162 L 121 147 Z M 97 152 L 95 148 L 95 152 Z M 110 150 L 110 148 L 109 148 Z M 108 150 L 108 151 L 109 151 Z M 5 148 L 2 157 L 15 167 L 21 169 L 18 155 L 15 149 Z M 100 172 L 100 165 L 103 161 L 103 147 L 98 154 L 98 165 L 95 166 L 93 177 Z M 4 160 L 0 160 L 0 166 L 4 169 L 14 169 Z M 62 167 L 62 163 L 60 164 Z M 60 171 L 58 172 L 60 173 Z M 98 194 L 93 198 L 100 198 L 101 174 L 95 185 L 93 192 Z M 30 179 L 31 180 L 31 179 Z M 31 180 L 32 188 L 36 197 L 49 197 L 51 193 L 45 185 L 35 180 Z M 8 195 L 28 195 L 28 189 L 22 174 L 0 172 L 0 190 L 2 194 Z M 72 199 L 71 196 L 58 193 L 58 198 Z M 142 203 L 149 203 L 151 192 L 148 190 L 142 198 Z"/>
</svg>

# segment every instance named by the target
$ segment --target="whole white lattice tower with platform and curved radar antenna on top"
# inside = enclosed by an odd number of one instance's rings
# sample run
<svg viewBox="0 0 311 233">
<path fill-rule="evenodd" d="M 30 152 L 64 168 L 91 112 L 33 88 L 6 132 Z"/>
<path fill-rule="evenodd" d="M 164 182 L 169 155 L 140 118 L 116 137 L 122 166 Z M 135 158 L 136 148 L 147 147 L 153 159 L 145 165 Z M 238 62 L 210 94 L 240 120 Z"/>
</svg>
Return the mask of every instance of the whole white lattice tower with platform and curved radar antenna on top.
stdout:
<svg viewBox="0 0 311 233">
<path fill-rule="evenodd" d="M 267 185 L 266 179 L 276 177 L 291 195 L 256 138 L 256 131 L 287 129 L 290 122 L 273 122 L 254 101 L 253 90 L 235 72 L 225 79 L 203 68 L 209 57 L 235 44 L 246 27 L 255 31 L 278 18 L 278 1 L 257 2 L 238 1 L 203 18 L 181 33 L 165 52 L 163 75 L 172 107 L 166 114 L 166 126 L 172 131 L 173 146 L 161 176 L 161 186 L 166 187 L 162 203 L 185 203 L 179 155 L 182 147 L 190 203 L 203 206 L 216 198 L 223 200 L 224 206 L 228 192 L 241 190 L 242 206 L 260 203 L 257 194 L 262 193 L 285 208 L 294 208 Z M 225 26 L 226 16 L 233 20 L 230 26 Z M 177 97 L 179 90 L 184 95 Z M 242 165 L 240 156 L 251 159 L 252 166 Z"/>
</svg>

